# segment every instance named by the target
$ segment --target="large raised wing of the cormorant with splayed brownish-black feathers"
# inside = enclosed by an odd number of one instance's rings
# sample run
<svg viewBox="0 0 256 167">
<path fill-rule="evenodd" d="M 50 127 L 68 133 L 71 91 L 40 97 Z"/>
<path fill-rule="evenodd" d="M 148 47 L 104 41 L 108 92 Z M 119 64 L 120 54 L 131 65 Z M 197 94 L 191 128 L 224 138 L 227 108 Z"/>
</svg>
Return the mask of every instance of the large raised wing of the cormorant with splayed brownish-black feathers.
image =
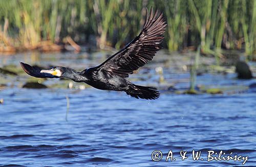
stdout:
<svg viewBox="0 0 256 167">
<path fill-rule="evenodd" d="M 162 35 L 166 29 L 163 13 L 156 10 L 147 15 L 143 29 L 124 49 L 120 50 L 97 68 L 123 78 L 129 77 L 134 70 L 151 61 L 161 48 Z"/>
</svg>

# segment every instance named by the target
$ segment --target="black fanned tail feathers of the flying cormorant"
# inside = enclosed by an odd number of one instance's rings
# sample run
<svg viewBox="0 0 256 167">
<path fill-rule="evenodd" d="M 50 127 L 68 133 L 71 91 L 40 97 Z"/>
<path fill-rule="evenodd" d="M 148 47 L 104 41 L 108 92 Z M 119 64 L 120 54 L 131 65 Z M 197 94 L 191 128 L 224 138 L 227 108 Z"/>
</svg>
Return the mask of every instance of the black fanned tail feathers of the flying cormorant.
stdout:
<svg viewBox="0 0 256 167">
<path fill-rule="evenodd" d="M 125 91 L 126 94 L 134 98 L 154 100 L 159 98 L 160 93 L 155 87 L 146 87 L 139 85 L 130 85 L 130 89 Z"/>
</svg>

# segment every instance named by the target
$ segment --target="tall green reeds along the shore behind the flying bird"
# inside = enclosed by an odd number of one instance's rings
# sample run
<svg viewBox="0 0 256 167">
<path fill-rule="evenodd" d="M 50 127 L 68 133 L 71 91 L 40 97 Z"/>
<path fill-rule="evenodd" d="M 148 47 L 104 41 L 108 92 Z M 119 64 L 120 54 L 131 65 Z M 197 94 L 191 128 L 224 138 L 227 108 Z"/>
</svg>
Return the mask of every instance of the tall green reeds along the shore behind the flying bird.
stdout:
<svg viewBox="0 0 256 167">
<path fill-rule="evenodd" d="M 0 1 L 0 53 L 80 51 L 80 45 L 120 49 L 140 31 L 145 8 L 163 11 L 169 51 L 214 55 L 241 50 L 256 59 L 256 1 Z"/>
</svg>

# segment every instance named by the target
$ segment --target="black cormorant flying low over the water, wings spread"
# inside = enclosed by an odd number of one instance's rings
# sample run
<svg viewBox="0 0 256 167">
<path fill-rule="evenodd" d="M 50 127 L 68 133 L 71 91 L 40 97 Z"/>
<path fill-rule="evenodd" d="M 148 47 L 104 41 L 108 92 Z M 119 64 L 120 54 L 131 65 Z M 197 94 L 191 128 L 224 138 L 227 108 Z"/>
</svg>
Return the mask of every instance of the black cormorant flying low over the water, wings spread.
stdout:
<svg viewBox="0 0 256 167">
<path fill-rule="evenodd" d="M 27 74 L 37 78 L 68 78 L 75 82 L 84 82 L 101 90 L 125 91 L 134 98 L 157 99 L 160 93 L 155 87 L 139 86 L 125 78 L 134 70 L 147 64 L 161 49 L 166 21 L 163 13 L 150 10 L 140 34 L 122 50 L 112 55 L 102 64 L 78 72 L 74 69 L 56 66 L 41 70 L 36 66 L 20 62 Z"/>
</svg>

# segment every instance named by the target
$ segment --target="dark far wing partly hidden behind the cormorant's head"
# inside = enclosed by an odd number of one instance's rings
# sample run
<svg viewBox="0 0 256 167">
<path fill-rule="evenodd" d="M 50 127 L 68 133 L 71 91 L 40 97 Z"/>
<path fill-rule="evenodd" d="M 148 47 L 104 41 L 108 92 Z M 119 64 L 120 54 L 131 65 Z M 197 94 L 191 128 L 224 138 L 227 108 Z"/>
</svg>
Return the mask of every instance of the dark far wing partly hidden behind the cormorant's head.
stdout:
<svg viewBox="0 0 256 167">
<path fill-rule="evenodd" d="M 30 76 L 33 76 L 36 78 L 59 78 L 49 73 L 40 73 L 41 69 L 37 66 L 31 66 L 23 62 L 20 62 L 20 65 L 25 70 L 25 72 Z"/>
</svg>

